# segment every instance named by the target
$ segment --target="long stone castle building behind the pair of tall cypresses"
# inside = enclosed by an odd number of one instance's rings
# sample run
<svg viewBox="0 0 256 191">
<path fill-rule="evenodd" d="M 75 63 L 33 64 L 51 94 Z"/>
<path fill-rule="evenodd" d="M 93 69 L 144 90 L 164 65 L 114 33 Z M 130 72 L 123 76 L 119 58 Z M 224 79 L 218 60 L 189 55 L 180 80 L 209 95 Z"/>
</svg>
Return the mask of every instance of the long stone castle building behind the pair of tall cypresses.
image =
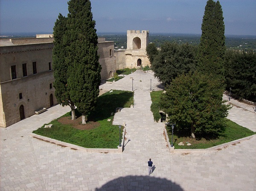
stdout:
<svg viewBox="0 0 256 191">
<path fill-rule="evenodd" d="M 58 104 L 54 94 L 52 34 L 0 39 L 0 127 Z M 116 71 L 114 42 L 98 39 L 102 80 Z"/>
</svg>

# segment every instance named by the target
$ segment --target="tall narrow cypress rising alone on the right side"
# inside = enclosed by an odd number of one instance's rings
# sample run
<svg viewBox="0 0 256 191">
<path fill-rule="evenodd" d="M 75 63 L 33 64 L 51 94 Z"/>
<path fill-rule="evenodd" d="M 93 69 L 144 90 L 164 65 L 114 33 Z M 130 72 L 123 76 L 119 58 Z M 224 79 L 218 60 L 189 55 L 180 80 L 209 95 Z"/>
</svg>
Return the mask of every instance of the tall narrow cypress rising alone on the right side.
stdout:
<svg viewBox="0 0 256 191">
<path fill-rule="evenodd" d="M 205 6 L 202 35 L 198 46 L 198 70 L 224 80 L 225 26 L 219 1 Z"/>
</svg>

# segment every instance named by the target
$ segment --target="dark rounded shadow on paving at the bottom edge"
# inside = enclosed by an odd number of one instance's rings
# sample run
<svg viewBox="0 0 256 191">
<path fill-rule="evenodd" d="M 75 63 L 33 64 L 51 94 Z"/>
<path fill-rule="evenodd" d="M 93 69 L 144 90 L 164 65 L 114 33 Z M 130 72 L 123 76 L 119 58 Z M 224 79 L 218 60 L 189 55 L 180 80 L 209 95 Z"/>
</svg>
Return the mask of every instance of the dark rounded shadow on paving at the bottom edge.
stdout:
<svg viewBox="0 0 256 191">
<path fill-rule="evenodd" d="M 156 178 L 153 176 L 126 176 L 111 180 L 95 191 L 184 191 L 180 185 L 167 180 L 166 178 Z"/>
</svg>

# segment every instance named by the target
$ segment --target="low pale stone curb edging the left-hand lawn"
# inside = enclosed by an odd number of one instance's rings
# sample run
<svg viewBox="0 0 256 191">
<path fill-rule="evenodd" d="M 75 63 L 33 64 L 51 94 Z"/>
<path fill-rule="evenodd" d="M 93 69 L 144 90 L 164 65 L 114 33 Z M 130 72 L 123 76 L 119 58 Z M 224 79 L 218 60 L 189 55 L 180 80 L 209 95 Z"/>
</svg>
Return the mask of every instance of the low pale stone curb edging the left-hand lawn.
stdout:
<svg viewBox="0 0 256 191">
<path fill-rule="evenodd" d="M 125 128 L 124 128 L 123 134 L 122 134 L 123 143 L 124 143 L 124 140 L 125 140 L 125 133 L 124 132 L 125 132 Z M 41 135 L 38 135 L 38 134 L 35 134 L 35 133 L 29 133 L 29 135 L 33 138 L 37 138 L 37 139 L 42 140 L 42 141 L 46 141 L 46 142 L 49 142 L 49 143 L 52 143 L 52 144 L 56 144 L 56 145 L 61 146 L 61 147 L 69 147 L 73 150 L 79 150 L 79 151 L 84 151 L 84 152 L 122 153 L 122 151 L 123 151 L 123 145 L 121 147 L 117 146 L 117 148 L 84 148 L 84 147 L 81 147 L 81 146 L 78 146 L 78 145 L 73 145 L 71 143 L 65 143 L 63 141 L 55 140 L 55 139 L 52 139 L 52 138 L 49 138 L 49 137 L 44 137 L 44 136 L 41 136 Z"/>
</svg>

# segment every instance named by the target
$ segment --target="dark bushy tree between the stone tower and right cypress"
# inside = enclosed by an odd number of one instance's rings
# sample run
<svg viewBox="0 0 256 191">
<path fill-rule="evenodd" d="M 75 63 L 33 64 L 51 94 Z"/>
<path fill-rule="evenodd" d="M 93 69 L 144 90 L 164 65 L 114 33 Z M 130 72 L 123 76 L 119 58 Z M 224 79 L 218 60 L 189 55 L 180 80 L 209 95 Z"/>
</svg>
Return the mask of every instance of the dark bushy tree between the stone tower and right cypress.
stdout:
<svg viewBox="0 0 256 191">
<path fill-rule="evenodd" d="M 164 84 L 169 84 L 178 75 L 195 70 L 196 51 L 196 46 L 187 43 L 163 43 L 151 65 L 154 76 Z"/>
</svg>

